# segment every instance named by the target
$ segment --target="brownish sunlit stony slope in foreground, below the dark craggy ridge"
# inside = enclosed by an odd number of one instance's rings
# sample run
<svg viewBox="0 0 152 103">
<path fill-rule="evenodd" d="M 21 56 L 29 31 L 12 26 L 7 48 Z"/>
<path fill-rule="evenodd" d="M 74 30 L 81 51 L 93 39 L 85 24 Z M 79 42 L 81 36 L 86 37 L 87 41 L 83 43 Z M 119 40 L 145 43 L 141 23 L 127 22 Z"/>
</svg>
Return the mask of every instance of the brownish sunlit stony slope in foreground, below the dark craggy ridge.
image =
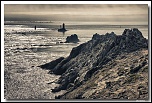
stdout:
<svg viewBox="0 0 152 103">
<path fill-rule="evenodd" d="M 96 70 L 80 85 L 76 85 L 78 82 L 74 82 L 73 88 L 67 88 L 68 92 L 57 98 L 148 99 L 147 53 L 147 49 L 122 53 Z M 141 68 L 132 72 L 139 65 L 142 65 Z"/>
</svg>

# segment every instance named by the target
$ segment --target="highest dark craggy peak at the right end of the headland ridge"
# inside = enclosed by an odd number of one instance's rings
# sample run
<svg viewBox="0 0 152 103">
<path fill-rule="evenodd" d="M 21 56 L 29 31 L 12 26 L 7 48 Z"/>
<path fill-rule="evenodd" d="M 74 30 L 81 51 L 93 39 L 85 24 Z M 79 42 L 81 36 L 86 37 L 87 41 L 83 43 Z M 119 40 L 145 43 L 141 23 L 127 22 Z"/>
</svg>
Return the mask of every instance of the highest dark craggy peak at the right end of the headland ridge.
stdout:
<svg viewBox="0 0 152 103">
<path fill-rule="evenodd" d="M 127 52 L 132 52 L 140 48 L 148 48 L 148 40 L 142 36 L 142 33 L 134 29 L 125 29 L 123 39 L 120 41 L 121 49 L 125 49 Z"/>
</svg>

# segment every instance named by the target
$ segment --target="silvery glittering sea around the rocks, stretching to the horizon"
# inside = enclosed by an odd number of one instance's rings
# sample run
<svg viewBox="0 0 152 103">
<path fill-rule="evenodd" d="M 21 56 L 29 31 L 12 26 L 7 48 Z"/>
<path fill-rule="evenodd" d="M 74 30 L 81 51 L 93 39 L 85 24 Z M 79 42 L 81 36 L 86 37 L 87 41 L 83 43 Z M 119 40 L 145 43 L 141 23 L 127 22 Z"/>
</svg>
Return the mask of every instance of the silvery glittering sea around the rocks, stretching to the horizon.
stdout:
<svg viewBox="0 0 152 103">
<path fill-rule="evenodd" d="M 60 76 L 48 74 L 49 70 L 37 66 L 61 56 L 67 57 L 73 47 L 88 40 L 93 34 L 115 32 L 121 35 L 126 28 L 138 28 L 148 39 L 146 25 L 100 25 L 99 23 L 65 23 L 65 33 L 58 32 L 61 23 L 52 22 L 6 22 L 4 25 L 4 95 L 6 99 L 54 99 L 52 83 Z M 37 29 L 34 29 L 34 26 Z M 65 42 L 66 37 L 77 34 L 79 43 Z"/>
</svg>

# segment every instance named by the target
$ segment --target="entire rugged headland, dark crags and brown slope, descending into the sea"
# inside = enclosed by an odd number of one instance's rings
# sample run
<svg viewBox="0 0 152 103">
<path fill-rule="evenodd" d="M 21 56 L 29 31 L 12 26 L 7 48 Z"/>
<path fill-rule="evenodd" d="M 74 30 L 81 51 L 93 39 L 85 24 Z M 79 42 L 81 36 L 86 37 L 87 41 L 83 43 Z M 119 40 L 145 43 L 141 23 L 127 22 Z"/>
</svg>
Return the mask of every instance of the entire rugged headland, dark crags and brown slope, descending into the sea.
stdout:
<svg viewBox="0 0 152 103">
<path fill-rule="evenodd" d="M 148 40 L 136 29 L 92 39 L 40 66 L 61 75 L 56 99 L 148 99 Z"/>
</svg>

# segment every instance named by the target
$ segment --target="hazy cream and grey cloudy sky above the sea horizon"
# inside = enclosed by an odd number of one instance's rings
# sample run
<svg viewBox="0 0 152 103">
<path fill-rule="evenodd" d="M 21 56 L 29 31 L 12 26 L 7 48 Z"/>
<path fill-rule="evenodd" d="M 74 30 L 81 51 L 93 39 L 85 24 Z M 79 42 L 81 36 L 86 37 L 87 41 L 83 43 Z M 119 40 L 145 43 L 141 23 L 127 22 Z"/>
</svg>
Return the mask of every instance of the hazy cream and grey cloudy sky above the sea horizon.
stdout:
<svg viewBox="0 0 152 103">
<path fill-rule="evenodd" d="M 148 25 L 147 4 L 5 4 L 5 21 L 117 22 Z"/>
</svg>

